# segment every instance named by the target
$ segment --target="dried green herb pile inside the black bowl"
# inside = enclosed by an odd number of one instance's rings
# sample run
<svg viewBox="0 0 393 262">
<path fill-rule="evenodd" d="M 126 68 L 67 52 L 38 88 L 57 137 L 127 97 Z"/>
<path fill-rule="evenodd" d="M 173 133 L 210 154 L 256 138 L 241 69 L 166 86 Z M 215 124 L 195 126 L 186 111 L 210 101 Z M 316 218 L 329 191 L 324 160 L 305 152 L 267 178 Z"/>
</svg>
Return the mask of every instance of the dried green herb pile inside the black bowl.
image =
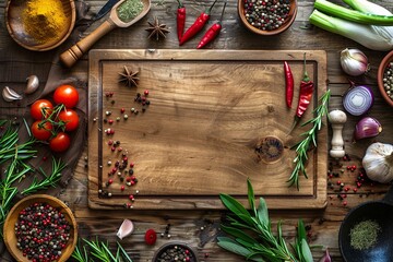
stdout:
<svg viewBox="0 0 393 262">
<path fill-rule="evenodd" d="M 377 222 L 371 219 L 360 222 L 350 229 L 350 246 L 357 250 L 372 248 L 380 231 L 381 227 Z"/>
</svg>

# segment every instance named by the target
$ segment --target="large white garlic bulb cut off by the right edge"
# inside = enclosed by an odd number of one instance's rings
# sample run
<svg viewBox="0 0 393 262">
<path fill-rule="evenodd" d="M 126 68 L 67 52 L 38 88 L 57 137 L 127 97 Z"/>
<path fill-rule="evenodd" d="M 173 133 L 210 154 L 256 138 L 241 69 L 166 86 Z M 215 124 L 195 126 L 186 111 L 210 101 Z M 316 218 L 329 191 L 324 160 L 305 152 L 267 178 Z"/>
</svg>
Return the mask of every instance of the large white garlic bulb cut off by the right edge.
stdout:
<svg viewBox="0 0 393 262">
<path fill-rule="evenodd" d="M 393 180 L 393 145 L 373 143 L 362 158 L 367 176 L 377 182 L 388 183 Z"/>
</svg>

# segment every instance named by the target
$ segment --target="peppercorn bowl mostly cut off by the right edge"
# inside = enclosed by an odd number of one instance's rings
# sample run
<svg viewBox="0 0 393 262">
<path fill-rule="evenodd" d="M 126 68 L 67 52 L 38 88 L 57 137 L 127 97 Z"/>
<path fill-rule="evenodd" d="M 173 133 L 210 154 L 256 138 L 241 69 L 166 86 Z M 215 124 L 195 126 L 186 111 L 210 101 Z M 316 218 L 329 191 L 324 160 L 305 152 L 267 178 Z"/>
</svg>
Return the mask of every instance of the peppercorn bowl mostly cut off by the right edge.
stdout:
<svg viewBox="0 0 393 262">
<path fill-rule="evenodd" d="M 378 87 L 385 102 L 393 107 L 393 51 L 389 52 L 378 68 Z"/>
</svg>

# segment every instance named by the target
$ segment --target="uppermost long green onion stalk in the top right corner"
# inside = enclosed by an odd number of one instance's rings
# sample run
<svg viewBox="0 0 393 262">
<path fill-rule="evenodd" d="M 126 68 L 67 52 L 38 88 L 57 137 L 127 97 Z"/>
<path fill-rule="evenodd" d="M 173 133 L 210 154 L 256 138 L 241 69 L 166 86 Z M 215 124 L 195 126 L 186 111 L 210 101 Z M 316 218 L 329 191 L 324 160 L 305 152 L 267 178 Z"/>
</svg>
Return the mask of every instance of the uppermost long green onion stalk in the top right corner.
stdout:
<svg viewBox="0 0 393 262">
<path fill-rule="evenodd" d="M 393 25 L 393 15 L 379 15 L 362 13 L 356 10 L 347 9 L 326 0 L 317 0 L 314 8 L 326 14 L 352 21 L 359 24 L 368 25 Z"/>
</svg>

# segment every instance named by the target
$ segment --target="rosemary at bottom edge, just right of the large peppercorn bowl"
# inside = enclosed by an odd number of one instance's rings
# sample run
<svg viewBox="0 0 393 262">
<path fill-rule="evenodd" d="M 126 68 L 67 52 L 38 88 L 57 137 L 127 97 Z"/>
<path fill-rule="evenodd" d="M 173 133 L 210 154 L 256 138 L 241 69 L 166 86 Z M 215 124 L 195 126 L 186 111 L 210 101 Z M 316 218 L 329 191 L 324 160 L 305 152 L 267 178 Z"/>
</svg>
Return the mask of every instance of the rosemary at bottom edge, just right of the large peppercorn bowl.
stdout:
<svg viewBox="0 0 393 262">
<path fill-rule="evenodd" d="M 123 247 L 117 242 L 117 251 L 114 255 L 109 250 L 108 242 L 98 240 L 88 240 L 82 238 L 82 241 L 86 246 L 82 246 L 81 239 L 79 245 L 75 247 L 72 258 L 79 262 L 90 262 L 90 261 L 103 261 L 103 262 L 132 262 L 131 258 L 128 255 Z"/>
</svg>

